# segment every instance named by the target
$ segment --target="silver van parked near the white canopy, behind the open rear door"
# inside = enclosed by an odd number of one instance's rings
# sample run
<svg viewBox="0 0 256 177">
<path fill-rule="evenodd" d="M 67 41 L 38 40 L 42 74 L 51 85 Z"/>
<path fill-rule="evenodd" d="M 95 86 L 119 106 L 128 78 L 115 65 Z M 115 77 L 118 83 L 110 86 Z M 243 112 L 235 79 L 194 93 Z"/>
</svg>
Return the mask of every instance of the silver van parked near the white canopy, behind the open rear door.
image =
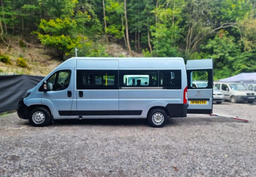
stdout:
<svg viewBox="0 0 256 177">
<path fill-rule="evenodd" d="M 214 82 L 213 84 L 224 94 L 224 100 L 231 101 L 231 103 L 253 103 L 256 100 L 254 92 L 247 90 L 239 82 Z"/>
</svg>

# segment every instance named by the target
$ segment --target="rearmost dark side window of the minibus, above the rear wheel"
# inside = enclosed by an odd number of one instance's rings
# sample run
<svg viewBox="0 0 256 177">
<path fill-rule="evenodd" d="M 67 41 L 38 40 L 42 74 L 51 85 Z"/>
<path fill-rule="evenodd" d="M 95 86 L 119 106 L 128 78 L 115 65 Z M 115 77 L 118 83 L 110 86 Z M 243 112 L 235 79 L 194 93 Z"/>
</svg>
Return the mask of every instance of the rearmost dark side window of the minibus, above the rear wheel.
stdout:
<svg viewBox="0 0 256 177">
<path fill-rule="evenodd" d="M 160 86 L 166 89 L 181 89 L 181 70 L 159 71 Z"/>
</svg>

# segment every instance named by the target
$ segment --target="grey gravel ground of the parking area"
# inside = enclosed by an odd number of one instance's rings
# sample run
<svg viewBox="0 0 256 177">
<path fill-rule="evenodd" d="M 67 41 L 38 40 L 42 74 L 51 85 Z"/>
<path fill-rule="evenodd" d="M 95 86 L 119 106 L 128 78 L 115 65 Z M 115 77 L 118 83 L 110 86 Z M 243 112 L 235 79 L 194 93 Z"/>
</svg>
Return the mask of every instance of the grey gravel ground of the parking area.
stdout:
<svg viewBox="0 0 256 177">
<path fill-rule="evenodd" d="M 188 114 L 163 128 L 145 120 L 65 120 L 32 127 L 0 116 L 0 176 L 256 176 L 255 104 Z"/>
</svg>

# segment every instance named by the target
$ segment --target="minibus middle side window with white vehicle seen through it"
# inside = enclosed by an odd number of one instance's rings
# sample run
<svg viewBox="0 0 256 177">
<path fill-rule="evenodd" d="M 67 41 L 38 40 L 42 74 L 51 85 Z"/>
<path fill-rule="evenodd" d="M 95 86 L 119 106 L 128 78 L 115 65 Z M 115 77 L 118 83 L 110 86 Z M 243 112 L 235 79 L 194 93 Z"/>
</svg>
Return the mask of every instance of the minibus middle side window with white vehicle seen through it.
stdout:
<svg viewBox="0 0 256 177">
<path fill-rule="evenodd" d="M 157 70 L 119 70 L 120 87 L 158 87 Z"/>
</svg>

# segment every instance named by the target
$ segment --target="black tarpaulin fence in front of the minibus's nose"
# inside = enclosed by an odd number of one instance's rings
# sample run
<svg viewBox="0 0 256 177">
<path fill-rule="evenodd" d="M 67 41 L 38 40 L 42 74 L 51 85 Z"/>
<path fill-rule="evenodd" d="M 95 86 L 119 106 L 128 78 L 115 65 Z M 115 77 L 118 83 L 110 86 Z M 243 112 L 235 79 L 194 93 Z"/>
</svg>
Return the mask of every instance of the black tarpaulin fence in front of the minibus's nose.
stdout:
<svg viewBox="0 0 256 177">
<path fill-rule="evenodd" d="M 0 76 L 0 112 L 18 108 L 18 101 L 26 91 L 36 86 L 44 77 L 29 75 Z"/>
</svg>

